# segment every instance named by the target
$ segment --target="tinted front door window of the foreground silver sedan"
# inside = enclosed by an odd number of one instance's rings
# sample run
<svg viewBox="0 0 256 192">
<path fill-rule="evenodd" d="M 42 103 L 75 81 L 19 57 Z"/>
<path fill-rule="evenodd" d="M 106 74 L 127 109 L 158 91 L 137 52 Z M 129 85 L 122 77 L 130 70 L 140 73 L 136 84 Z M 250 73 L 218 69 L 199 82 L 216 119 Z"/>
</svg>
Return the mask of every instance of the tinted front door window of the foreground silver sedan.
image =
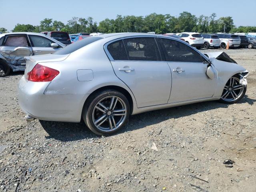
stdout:
<svg viewBox="0 0 256 192">
<path fill-rule="evenodd" d="M 201 55 L 182 42 L 161 38 L 160 44 L 167 61 L 202 62 Z"/>
</svg>

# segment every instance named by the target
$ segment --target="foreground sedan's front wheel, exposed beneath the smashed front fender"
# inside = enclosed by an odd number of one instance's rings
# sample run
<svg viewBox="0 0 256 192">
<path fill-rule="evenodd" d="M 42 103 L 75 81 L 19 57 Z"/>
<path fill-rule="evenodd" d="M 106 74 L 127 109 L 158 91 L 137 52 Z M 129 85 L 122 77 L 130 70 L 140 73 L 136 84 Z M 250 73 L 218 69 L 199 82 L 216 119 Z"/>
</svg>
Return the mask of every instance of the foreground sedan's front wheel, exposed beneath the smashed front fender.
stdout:
<svg viewBox="0 0 256 192">
<path fill-rule="evenodd" d="M 237 76 L 232 76 L 222 92 L 220 102 L 233 104 L 241 100 L 246 92 L 246 85 L 240 84 L 240 79 Z"/>
</svg>

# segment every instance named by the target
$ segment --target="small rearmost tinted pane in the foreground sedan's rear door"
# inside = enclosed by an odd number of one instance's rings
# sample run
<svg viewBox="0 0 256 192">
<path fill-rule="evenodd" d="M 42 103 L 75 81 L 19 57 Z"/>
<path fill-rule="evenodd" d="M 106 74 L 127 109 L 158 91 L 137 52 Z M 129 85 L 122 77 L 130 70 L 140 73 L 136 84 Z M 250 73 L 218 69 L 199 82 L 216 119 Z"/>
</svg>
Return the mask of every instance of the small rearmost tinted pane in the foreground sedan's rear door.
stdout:
<svg viewBox="0 0 256 192">
<path fill-rule="evenodd" d="M 128 60 L 128 56 L 122 40 L 109 44 L 108 52 L 114 60 Z"/>
</svg>

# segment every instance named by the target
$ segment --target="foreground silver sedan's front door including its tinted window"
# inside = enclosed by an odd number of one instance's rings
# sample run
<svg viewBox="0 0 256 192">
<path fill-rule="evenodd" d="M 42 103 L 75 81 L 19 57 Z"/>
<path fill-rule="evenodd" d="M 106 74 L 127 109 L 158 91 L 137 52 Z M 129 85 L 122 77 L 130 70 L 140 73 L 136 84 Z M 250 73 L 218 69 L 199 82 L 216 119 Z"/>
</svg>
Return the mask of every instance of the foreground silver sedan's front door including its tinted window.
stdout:
<svg viewBox="0 0 256 192">
<path fill-rule="evenodd" d="M 217 75 L 211 80 L 206 75 L 207 63 L 185 43 L 160 38 L 166 61 L 172 72 L 172 90 L 168 103 L 210 98 L 217 88 Z M 216 69 L 213 67 L 216 72 Z"/>
</svg>

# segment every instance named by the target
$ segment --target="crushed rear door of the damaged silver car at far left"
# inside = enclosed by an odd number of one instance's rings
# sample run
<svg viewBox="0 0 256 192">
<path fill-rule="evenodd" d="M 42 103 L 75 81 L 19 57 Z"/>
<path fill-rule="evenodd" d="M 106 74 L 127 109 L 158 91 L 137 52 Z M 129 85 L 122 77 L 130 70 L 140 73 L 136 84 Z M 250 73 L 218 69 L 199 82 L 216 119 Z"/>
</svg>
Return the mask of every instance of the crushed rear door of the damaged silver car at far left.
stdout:
<svg viewBox="0 0 256 192">
<path fill-rule="evenodd" d="M 26 61 L 24 56 L 32 55 L 32 48 L 26 34 L 6 35 L 0 54 L 12 66 L 13 71 L 24 69 Z"/>
</svg>

